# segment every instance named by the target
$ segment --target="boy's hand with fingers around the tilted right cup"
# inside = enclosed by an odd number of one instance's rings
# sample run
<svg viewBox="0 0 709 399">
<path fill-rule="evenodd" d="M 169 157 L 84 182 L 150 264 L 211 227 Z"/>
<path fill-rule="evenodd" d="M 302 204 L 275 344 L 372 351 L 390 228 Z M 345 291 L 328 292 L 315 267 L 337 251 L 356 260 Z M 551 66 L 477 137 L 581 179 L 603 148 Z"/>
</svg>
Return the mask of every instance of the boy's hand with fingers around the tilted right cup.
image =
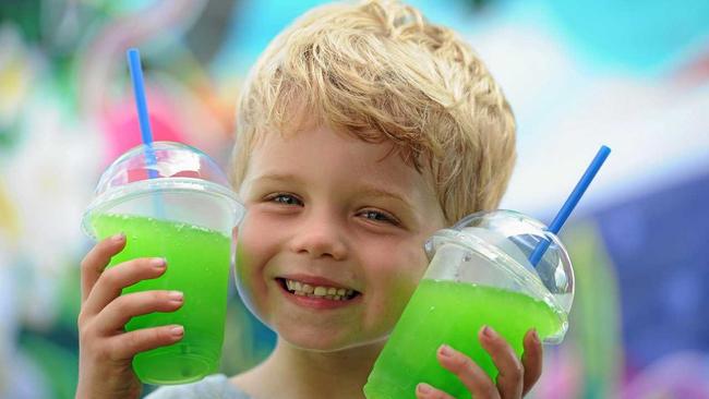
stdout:
<svg viewBox="0 0 709 399">
<path fill-rule="evenodd" d="M 521 362 L 512 347 L 492 328 L 480 329 L 478 338 L 500 371 L 496 386 L 476 362 L 450 347 L 442 346 L 438 349 L 437 358 L 441 365 L 457 375 L 476 399 L 516 399 L 526 395 L 542 373 L 542 346 L 537 332 L 530 329 L 525 335 Z M 424 383 L 418 385 L 416 397 L 454 399 L 450 395 Z"/>
</svg>

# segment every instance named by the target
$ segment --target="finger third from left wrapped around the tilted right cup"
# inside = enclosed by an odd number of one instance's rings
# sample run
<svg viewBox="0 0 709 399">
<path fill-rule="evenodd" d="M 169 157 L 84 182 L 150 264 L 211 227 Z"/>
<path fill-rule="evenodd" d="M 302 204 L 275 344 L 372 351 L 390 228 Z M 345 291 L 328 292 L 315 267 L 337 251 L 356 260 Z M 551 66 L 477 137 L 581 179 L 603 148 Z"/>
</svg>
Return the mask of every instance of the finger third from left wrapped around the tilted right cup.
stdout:
<svg viewBox="0 0 709 399">
<path fill-rule="evenodd" d="M 480 344 L 490 353 L 497 367 L 497 390 L 502 398 L 519 398 L 524 388 L 525 368 L 509 343 L 492 327 L 483 326 L 478 334 Z"/>
</svg>

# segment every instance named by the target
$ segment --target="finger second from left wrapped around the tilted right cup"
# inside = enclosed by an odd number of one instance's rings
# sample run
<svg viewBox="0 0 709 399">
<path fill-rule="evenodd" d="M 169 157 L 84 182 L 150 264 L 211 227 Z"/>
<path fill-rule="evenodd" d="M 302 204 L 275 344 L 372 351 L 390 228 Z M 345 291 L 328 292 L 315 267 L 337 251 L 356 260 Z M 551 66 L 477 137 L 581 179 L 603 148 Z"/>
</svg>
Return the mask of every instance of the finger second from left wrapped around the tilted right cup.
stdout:
<svg viewBox="0 0 709 399">
<path fill-rule="evenodd" d="M 492 379 L 470 358 L 447 344 L 442 344 L 436 354 L 438 363 L 455 374 L 474 398 L 500 398 Z"/>
</svg>

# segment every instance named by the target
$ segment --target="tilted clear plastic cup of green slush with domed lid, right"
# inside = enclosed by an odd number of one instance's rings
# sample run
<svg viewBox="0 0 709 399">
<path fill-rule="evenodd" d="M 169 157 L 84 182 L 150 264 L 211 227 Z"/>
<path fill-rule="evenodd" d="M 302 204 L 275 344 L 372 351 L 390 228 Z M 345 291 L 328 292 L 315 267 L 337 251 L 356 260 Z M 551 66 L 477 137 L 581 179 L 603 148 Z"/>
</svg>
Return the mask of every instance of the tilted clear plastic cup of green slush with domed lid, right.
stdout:
<svg viewBox="0 0 709 399">
<path fill-rule="evenodd" d="M 549 247 L 532 266 L 528 259 L 543 241 Z M 497 370 L 477 338 L 483 325 L 518 356 L 530 328 L 544 343 L 563 340 L 574 271 L 564 245 L 543 223 L 510 210 L 479 213 L 437 231 L 425 250 L 431 263 L 374 364 L 366 398 L 413 397 L 419 383 L 470 398 L 435 353 L 449 344 L 495 379 Z"/>
</svg>

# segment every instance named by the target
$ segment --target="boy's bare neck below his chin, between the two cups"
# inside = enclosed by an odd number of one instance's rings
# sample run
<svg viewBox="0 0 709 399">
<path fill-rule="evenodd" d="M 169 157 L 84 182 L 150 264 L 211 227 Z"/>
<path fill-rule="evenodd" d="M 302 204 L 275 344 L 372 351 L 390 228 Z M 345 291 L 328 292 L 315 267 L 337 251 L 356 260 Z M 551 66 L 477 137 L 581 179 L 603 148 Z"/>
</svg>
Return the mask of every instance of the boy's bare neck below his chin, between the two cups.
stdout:
<svg viewBox="0 0 709 399">
<path fill-rule="evenodd" d="M 384 343 L 315 352 L 278 339 L 268 359 L 231 382 L 254 399 L 364 398 L 362 387 Z"/>
</svg>

